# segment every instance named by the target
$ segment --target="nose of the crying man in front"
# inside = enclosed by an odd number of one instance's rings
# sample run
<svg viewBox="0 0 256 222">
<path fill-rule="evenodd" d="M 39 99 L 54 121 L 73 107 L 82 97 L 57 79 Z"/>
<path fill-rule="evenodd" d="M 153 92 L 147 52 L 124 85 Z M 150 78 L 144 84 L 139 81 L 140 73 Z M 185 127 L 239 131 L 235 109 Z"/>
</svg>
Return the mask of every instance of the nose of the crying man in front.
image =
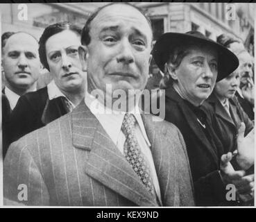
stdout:
<svg viewBox="0 0 256 222">
<path fill-rule="evenodd" d="M 130 64 L 134 62 L 133 48 L 128 40 L 123 40 L 120 46 L 120 53 L 117 56 L 117 62 Z"/>
</svg>

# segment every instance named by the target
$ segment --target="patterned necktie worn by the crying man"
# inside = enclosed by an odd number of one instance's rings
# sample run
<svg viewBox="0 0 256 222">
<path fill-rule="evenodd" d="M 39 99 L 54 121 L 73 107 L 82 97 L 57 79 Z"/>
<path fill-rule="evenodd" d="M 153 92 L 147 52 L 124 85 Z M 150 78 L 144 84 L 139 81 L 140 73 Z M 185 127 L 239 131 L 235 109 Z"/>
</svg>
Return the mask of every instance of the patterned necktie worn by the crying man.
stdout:
<svg viewBox="0 0 256 222">
<path fill-rule="evenodd" d="M 126 113 L 121 126 L 121 130 L 126 136 L 126 142 L 123 145 L 124 155 L 135 173 L 137 173 L 137 176 L 139 176 L 139 179 L 146 186 L 146 189 L 154 195 L 155 191 L 150 176 L 150 169 L 135 137 L 135 123 L 136 119 L 133 114 Z"/>
</svg>

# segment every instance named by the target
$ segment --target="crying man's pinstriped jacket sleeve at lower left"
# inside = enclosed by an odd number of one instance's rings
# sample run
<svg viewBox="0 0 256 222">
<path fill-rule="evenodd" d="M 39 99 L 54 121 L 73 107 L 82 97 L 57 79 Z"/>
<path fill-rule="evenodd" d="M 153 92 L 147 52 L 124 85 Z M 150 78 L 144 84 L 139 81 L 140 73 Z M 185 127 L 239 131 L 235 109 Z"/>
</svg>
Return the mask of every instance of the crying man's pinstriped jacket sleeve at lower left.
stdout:
<svg viewBox="0 0 256 222">
<path fill-rule="evenodd" d="M 10 145 L 3 163 L 5 205 L 49 205 L 49 192 L 26 140 Z"/>
</svg>

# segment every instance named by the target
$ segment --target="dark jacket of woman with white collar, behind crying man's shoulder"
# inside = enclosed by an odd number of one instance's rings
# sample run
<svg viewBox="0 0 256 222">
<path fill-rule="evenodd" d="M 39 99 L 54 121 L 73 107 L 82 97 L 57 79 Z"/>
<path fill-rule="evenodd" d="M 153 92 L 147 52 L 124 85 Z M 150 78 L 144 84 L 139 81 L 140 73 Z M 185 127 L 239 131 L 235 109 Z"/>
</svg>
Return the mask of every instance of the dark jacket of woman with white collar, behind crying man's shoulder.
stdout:
<svg viewBox="0 0 256 222">
<path fill-rule="evenodd" d="M 28 92 L 19 98 L 10 119 L 11 142 L 67 114 L 61 97 L 49 100 L 47 87 Z"/>
</svg>

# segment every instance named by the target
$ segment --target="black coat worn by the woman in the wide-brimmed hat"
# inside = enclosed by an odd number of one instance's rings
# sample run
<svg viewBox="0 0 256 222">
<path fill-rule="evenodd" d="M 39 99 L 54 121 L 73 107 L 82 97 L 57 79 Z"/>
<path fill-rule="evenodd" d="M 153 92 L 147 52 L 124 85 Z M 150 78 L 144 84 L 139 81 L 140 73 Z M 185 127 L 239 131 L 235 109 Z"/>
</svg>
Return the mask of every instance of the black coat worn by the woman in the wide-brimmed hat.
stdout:
<svg viewBox="0 0 256 222">
<path fill-rule="evenodd" d="M 176 125 L 184 137 L 194 181 L 196 205 L 229 205 L 225 203 L 225 186 L 219 174 L 223 154 L 221 141 L 209 127 L 212 135 L 212 142 L 209 142 L 196 114 L 173 87 L 165 91 L 165 120 Z"/>
</svg>

